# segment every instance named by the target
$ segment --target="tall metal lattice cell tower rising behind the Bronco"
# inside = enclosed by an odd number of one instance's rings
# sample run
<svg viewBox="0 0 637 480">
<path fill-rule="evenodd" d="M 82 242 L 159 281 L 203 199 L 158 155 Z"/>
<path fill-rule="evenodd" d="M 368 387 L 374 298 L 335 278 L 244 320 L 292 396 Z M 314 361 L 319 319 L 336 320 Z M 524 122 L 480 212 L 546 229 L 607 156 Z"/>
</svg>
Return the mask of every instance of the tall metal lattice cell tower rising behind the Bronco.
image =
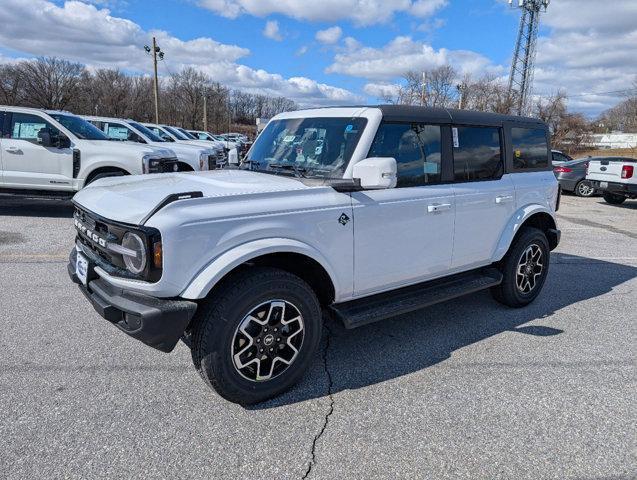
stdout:
<svg viewBox="0 0 637 480">
<path fill-rule="evenodd" d="M 527 112 L 528 101 L 533 87 L 535 63 L 535 45 L 540 26 L 540 11 L 549 6 L 550 0 L 515 0 L 522 9 L 518 41 L 513 52 L 511 75 L 509 76 L 509 98 L 513 100 L 513 109 L 518 115 Z M 514 0 L 509 0 L 513 5 Z"/>
</svg>

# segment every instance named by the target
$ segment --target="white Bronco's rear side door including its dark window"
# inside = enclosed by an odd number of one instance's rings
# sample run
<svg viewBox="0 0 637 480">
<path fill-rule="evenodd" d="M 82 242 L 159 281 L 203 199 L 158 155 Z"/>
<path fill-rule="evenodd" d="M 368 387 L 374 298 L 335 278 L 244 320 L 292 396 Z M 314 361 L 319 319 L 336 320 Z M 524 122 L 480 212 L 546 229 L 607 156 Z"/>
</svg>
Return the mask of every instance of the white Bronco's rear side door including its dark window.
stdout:
<svg viewBox="0 0 637 480">
<path fill-rule="evenodd" d="M 453 131 L 456 221 L 452 269 L 491 262 L 515 211 L 515 187 L 504 175 L 503 131 L 494 126 L 455 126 Z"/>
</svg>

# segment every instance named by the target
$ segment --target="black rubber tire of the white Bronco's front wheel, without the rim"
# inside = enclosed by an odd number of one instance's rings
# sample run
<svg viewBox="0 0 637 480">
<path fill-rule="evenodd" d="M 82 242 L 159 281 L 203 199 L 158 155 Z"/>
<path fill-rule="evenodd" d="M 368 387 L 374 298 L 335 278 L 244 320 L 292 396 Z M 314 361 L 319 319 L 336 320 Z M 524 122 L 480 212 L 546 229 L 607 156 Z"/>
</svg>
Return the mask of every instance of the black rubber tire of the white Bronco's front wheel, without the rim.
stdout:
<svg viewBox="0 0 637 480">
<path fill-rule="evenodd" d="M 270 380 L 251 381 L 235 368 L 232 344 L 237 327 L 256 306 L 273 300 L 294 304 L 305 333 L 296 359 Z M 284 270 L 252 267 L 231 275 L 199 306 L 191 328 L 191 353 L 204 381 L 223 398 L 251 405 L 289 389 L 314 359 L 322 335 L 321 306 L 310 286 Z"/>
</svg>

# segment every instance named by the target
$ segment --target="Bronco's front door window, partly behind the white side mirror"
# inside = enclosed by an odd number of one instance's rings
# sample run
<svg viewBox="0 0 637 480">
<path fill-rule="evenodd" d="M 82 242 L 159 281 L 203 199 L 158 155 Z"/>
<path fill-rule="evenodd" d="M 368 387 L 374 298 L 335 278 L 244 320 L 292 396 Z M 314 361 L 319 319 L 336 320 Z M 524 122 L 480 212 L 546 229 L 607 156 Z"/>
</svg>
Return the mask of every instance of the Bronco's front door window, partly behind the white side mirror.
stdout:
<svg viewBox="0 0 637 480">
<path fill-rule="evenodd" d="M 438 125 L 384 123 L 370 157 L 394 157 L 397 187 L 418 187 L 441 180 L 441 133 Z"/>
</svg>

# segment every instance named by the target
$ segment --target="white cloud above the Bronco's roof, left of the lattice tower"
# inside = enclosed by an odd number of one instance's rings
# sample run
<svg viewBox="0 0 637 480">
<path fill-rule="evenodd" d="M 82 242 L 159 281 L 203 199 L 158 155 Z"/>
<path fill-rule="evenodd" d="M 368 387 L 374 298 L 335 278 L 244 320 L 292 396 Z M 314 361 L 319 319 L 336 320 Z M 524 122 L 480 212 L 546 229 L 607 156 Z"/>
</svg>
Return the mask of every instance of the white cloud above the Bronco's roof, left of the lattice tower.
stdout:
<svg viewBox="0 0 637 480">
<path fill-rule="evenodd" d="M 459 73 L 500 73 L 502 67 L 475 52 L 468 50 L 434 49 L 431 45 L 396 37 L 382 48 L 363 47 L 351 39 L 345 52 L 334 58 L 328 73 L 341 73 L 353 77 L 387 82 L 401 77 L 408 71 L 428 70 L 451 64 Z"/>
</svg>

